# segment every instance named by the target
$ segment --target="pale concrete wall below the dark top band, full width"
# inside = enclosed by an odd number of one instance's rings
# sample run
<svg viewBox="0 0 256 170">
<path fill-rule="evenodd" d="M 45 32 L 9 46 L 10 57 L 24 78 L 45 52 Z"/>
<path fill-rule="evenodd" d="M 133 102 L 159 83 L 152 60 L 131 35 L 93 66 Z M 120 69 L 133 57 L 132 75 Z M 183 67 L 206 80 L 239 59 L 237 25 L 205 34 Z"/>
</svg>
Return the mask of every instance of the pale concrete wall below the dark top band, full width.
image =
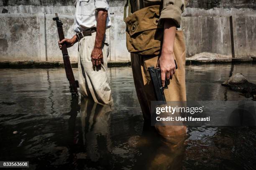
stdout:
<svg viewBox="0 0 256 170">
<path fill-rule="evenodd" d="M 52 14 L 0 14 L 0 61 L 61 61 L 56 23 Z M 125 23 L 120 15 L 110 15 L 110 58 L 130 60 L 126 49 Z M 72 37 L 73 16 L 61 15 L 65 37 Z M 256 17 L 233 17 L 235 57 L 256 56 Z M 187 57 L 200 52 L 232 55 L 229 17 L 183 17 Z M 77 61 L 77 44 L 69 48 Z"/>
</svg>

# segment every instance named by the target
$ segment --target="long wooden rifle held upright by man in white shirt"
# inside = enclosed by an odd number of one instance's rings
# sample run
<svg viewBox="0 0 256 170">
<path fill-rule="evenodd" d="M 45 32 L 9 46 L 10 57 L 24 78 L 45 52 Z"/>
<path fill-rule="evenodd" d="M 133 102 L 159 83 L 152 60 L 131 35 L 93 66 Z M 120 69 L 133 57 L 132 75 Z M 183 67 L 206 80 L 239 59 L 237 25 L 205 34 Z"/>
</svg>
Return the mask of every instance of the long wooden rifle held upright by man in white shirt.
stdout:
<svg viewBox="0 0 256 170">
<path fill-rule="evenodd" d="M 59 20 L 58 14 L 55 13 L 55 15 L 56 15 L 56 17 L 53 18 L 53 20 L 56 21 L 57 28 L 58 28 L 58 34 L 59 34 L 59 41 L 61 41 L 64 39 L 64 32 L 63 32 L 63 28 L 62 28 L 63 23 L 61 23 L 61 20 Z M 67 79 L 69 80 L 70 92 L 72 95 L 78 96 L 77 87 L 79 87 L 79 85 L 78 85 L 78 81 L 75 80 L 75 78 L 74 78 L 74 73 L 73 73 L 73 70 L 72 70 L 72 67 L 71 67 L 71 64 L 69 61 L 69 54 L 67 51 L 66 44 L 62 45 L 61 52 L 62 52 L 62 56 L 63 56 Z"/>
</svg>

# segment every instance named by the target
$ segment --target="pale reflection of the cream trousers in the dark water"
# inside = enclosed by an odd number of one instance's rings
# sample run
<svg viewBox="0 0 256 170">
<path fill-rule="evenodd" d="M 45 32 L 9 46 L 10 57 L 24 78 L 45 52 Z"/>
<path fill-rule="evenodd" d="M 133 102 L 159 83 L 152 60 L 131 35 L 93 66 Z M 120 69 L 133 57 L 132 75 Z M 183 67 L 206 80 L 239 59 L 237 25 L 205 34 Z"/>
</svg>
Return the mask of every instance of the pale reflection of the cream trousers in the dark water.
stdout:
<svg viewBox="0 0 256 170">
<path fill-rule="evenodd" d="M 106 153 L 111 148 L 110 112 L 110 105 L 100 105 L 89 98 L 81 99 L 82 133 L 87 155 L 92 161 L 101 160 L 104 164 L 108 164 Z"/>
</svg>

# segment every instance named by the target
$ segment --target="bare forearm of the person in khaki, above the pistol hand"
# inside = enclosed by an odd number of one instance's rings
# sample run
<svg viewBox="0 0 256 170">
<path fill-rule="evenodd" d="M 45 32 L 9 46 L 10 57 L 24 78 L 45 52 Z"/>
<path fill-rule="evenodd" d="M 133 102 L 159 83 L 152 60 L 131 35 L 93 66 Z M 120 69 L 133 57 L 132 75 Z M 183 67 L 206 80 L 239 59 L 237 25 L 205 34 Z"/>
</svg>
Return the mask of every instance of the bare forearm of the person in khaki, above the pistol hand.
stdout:
<svg viewBox="0 0 256 170">
<path fill-rule="evenodd" d="M 173 53 L 176 25 L 172 19 L 164 20 L 164 40 L 162 52 Z"/>
</svg>

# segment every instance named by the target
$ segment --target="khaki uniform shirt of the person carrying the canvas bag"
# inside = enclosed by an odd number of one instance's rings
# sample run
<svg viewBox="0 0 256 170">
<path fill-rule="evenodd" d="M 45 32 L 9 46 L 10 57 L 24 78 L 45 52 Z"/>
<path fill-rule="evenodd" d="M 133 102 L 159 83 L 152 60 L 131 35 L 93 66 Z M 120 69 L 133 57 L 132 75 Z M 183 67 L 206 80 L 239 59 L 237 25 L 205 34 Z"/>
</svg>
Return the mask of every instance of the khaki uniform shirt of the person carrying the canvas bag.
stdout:
<svg viewBox="0 0 256 170">
<path fill-rule="evenodd" d="M 187 1 L 188 0 L 130 0 L 130 4 L 132 13 L 151 5 L 161 5 L 162 10 L 160 20 L 171 18 L 176 25 L 179 26 Z"/>
</svg>

